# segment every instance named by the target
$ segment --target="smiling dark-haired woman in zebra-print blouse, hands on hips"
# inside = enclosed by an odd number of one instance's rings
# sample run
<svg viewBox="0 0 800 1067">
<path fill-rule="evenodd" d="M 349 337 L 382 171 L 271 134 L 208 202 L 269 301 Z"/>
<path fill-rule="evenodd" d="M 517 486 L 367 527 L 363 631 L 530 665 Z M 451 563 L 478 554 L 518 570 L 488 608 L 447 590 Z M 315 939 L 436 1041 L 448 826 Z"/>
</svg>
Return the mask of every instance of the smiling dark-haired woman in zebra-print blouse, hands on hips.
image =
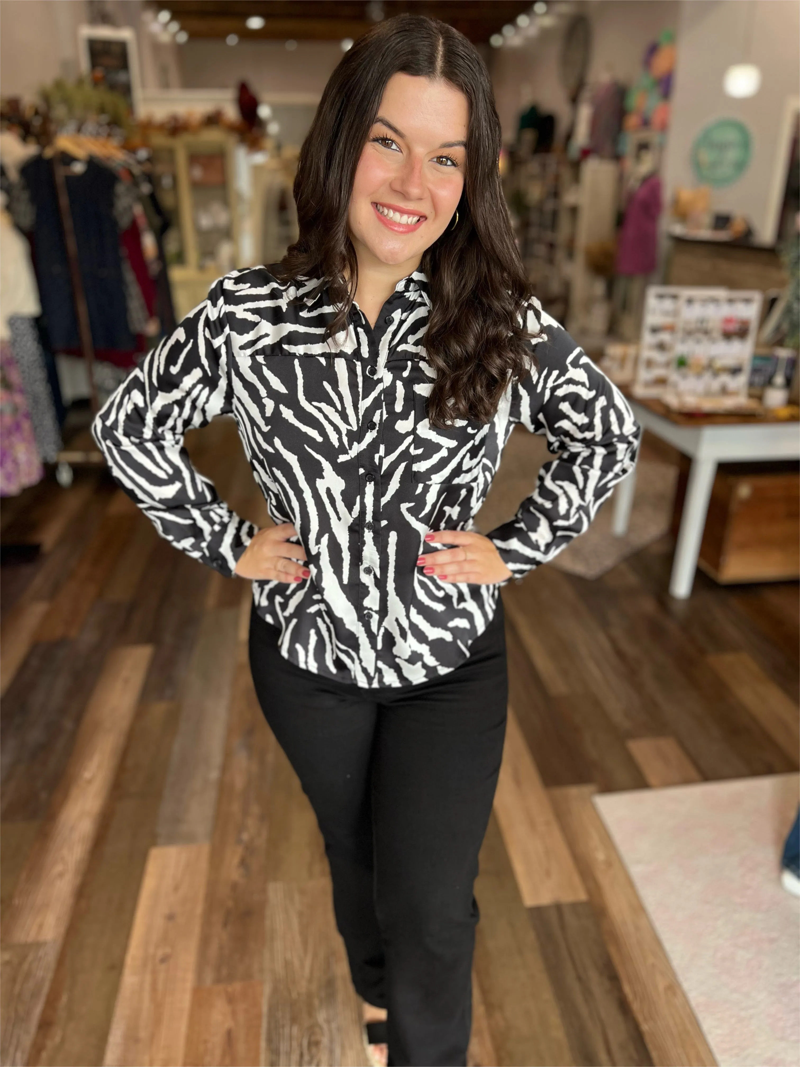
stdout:
<svg viewBox="0 0 800 1067">
<path fill-rule="evenodd" d="M 324 838 L 371 1054 L 393 1064 L 466 1063 L 506 729 L 498 590 L 583 532 L 639 435 L 529 292 L 499 152 L 469 42 L 419 16 L 379 25 L 303 145 L 298 243 L 272 273 L 218 281 L 94 425 L 163 537 L 253 582 L 256 691 Z M 274 526 L 189 463 L 185 430 L 223 413 Z M 473 516 L 515 423 L 560 455 L 483 537 Z"/>
</svg>

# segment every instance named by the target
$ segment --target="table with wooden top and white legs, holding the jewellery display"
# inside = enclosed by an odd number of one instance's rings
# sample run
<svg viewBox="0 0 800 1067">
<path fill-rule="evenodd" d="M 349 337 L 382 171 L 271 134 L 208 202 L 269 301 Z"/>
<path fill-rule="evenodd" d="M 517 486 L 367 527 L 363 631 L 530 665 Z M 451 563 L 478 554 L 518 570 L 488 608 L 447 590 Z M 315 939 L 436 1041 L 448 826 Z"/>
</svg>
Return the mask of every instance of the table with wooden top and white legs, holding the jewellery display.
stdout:
<svg viewBox="0 0 800 1067">
<path fill-rule="evenodd" d="M 800 423 L 797 416 L 779 419 L 766 412 L 751 416 L 685 415 L 667 408 L 660 400 L 638 399 L 629 394 L 626 398 L 642 429 L 691 458 L 670 577 L 670 594 L 686 600 L 694 584 L 717 464 L 798 460 Z M 627 531 L 635 491 L 636 468 L 614 490 L 612 529 L 617 537 Z"/>
</svg>

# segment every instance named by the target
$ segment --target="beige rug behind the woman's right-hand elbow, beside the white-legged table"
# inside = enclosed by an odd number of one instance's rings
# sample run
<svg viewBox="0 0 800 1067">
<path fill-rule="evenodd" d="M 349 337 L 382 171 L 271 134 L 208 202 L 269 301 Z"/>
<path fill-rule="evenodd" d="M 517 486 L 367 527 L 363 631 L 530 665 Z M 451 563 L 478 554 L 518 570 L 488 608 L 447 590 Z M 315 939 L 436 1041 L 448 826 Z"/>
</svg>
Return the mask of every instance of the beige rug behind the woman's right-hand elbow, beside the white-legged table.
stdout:
<svg viewBox="0 0 800 1067">
<path fill-rule="evenodd" d="M 476 527 L 486 534 L 511 519 L 519 501 L 533 492 L 539 468 L 553 459 L 539 434 L 516 427 L 502 453 L 500 469 L 476 515 Z M 613 495 L 606 500 L 582 537 L 576 538 L 548 566 L 581 578 L 601 577 L 627 556 L 652 544 L 669 531 L 677 467 L 640 460 L 636 494 L 625 537 L 611 532 Z"/>
</svg>

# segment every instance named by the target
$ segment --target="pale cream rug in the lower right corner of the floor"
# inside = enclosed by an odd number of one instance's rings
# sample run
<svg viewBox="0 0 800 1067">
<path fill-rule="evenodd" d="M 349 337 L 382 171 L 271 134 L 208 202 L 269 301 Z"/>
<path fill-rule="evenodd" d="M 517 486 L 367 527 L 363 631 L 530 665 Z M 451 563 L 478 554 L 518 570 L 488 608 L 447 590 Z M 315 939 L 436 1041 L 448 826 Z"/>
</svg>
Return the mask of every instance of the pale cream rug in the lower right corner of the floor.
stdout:
<svg viewBox="0 0 800 1067">
<path fill-rule="evenodd" d="M 800 1063 L 800 899 L 780 883 L 798 776 L 594 798 L 721 1067 Z"/>
</svg>

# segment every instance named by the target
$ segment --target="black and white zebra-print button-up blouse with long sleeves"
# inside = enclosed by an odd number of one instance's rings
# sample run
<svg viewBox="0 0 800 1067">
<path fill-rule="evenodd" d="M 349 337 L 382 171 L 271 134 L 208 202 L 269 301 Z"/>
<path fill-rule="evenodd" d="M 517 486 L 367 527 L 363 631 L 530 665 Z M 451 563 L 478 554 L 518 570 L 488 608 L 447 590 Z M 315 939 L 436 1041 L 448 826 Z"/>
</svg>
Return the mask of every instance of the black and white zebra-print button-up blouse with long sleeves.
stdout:
<svg viewBox="0 0 800 1067">
<path fill-rule="evenodd" d="M 334 309 L 318 288 L 281 284 L 263 267 L 220 278 L 109 397 L 93 436 L 161 537 L 230 576 L 257 527 L 191 465 L 183 433 L 233 415 L 270 516 L 294 524 L 310 570 L 302 583 L 253 582 L 281 654 L 366 688 L 423 682 L 467 656 L 511 580 L 442 583 L 416 559 L 446 547 L 425 541 L 428 530 L 474 528 L 513 425 L 545 434 L 557 457 L 489 535 L 517 580 L 587 529 L 631 469 L 640 428 L 537 301 L 527 327 L 543 327 L 531 343 L 538 369 L 507 389 L 489 425 L 432 428 L 425 274 L 398 282 L 373 329 L 353 306 L 347 332 L 327 341 Z"/>
</svg>

